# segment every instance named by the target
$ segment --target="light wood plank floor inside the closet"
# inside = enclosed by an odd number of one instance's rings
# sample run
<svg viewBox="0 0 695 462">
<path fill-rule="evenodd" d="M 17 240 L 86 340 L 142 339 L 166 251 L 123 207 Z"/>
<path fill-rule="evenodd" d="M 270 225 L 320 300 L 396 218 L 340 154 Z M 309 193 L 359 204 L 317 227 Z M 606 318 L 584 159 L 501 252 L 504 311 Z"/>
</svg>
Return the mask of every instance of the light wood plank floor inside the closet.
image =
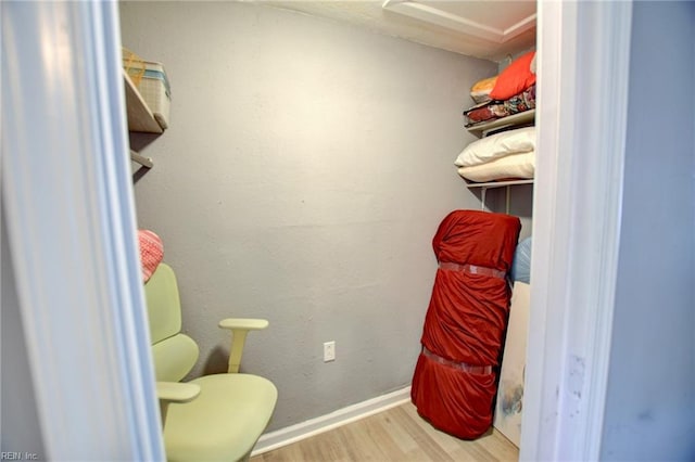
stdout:
<svg viewBox="0 0 695 462">
<path fill-rule="evenodd" d="M 473 441 L 442 433 L 407 402 L 312 438 L 251 458 L 283 461 L 518 461 L 519 450 L 496 429 Z"/>
</svg>

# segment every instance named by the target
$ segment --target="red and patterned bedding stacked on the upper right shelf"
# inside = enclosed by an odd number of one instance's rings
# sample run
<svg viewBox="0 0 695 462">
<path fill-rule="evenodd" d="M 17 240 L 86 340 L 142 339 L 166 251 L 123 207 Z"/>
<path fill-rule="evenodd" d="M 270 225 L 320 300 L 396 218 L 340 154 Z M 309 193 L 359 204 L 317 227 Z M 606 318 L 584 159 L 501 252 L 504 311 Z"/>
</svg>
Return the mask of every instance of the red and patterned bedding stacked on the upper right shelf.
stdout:
<svg viewBox="0 0 695 462">
<path fill-rule="evenodd" d="M 480 80 L 470 90 L 478 104 L 464 111 L 466 127 L 535 107 L 535 51 L 516 59 L 498 76 Z"/>
</svg>

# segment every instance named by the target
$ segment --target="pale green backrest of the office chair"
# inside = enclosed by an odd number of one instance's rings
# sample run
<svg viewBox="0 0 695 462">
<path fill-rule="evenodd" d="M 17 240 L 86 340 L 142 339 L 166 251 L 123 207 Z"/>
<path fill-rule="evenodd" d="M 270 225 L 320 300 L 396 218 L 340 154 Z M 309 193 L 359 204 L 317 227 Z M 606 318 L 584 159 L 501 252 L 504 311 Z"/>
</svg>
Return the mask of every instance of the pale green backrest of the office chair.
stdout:
<svg viewBox="0 0 695 462">
<path fill-rule="evenodd" d="M 198 361 L 198 345 L 181 333 L 181 303 L 176 274 L 161 262 L 144 284 L 152 357 L 157 381 L 178 382 Z"/>
</svg>

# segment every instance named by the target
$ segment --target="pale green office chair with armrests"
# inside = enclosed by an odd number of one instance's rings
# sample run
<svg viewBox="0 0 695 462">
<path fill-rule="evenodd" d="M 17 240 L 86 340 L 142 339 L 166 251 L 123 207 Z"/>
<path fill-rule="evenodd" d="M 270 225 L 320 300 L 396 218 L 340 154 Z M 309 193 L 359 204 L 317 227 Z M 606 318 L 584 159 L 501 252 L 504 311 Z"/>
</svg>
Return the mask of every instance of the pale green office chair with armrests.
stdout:
<svg viewBox="0 0 695 462">
<path fill-rule="evenodd" d="M 228 372 L 181 383 L 198 361 L 199 349 L 180 332 L 174 270 L 160 264 L 144 292 L 167 460 L 248 460 L 270 421 L 278 392 L 264 377 L 239 373 L 239 364 L 249 331 L 265 329 L 268 321 L 220 321 L 219 328 L 232 333 Z"/>
</svg>

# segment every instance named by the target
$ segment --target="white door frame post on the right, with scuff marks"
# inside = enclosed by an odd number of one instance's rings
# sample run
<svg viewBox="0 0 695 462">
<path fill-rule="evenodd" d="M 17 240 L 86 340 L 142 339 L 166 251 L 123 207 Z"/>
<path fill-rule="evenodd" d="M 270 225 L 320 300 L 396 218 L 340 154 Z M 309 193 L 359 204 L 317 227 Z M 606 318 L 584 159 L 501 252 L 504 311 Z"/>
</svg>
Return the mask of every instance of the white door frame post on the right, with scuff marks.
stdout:
<svg viewBox="0 0 695 462">
<path fill-rule="evenodd" d="M 620 243 L 631 1 L 541 1 L 520 459 L 597 460 Z"/>
</svg>

